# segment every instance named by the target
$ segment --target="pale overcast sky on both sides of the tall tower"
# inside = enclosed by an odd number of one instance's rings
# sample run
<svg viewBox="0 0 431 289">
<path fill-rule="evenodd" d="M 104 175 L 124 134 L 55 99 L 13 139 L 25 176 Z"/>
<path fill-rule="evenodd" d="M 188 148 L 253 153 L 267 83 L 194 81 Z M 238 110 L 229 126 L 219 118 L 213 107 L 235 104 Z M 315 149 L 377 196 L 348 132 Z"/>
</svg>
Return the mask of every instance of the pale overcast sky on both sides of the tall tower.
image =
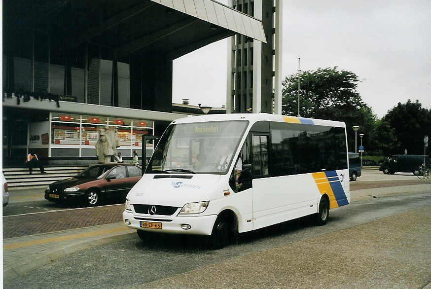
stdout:
<svg viewBox="0 0 431 289">
<path fill-rule="evenodd" d="M 430 15 L 430 0 L 283 0 L 283 79 L 300 57 L 301 71 L 356 73 L 379 118 L 408 99 L 431 109 Z M 226 71 L 226 39 L 176 59 L 173 102 L 225 105 Z"/>
</svg>

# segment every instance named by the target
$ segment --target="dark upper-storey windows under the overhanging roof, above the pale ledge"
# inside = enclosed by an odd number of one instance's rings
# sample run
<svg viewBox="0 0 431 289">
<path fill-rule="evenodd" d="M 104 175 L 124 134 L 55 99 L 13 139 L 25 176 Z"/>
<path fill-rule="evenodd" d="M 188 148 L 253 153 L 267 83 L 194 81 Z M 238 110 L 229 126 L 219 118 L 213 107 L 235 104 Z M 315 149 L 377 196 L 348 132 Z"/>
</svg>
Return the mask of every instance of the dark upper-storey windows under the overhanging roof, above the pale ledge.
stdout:
<svg viewBox="0 0 431 289">
<path fill-rule="evenodd" d="M 134 68 L 131 84 L 130 55 L 117 59 L 112 48 L 93 43 L 65 47 L 39 31 L 18 29 L 4 38 L 3 89 L 49 92 L 67 96 L 60 100 L 79 103 L 142 108 L 137 101 L 141 99 L 141 73 Z"/>
</svg>

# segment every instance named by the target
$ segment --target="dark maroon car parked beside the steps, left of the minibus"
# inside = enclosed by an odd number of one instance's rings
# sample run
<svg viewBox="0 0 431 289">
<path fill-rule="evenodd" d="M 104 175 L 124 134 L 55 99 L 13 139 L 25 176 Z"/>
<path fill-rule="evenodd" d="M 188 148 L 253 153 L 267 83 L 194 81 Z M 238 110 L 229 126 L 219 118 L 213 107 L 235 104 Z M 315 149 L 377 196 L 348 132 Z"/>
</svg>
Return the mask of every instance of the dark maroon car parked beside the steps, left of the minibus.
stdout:
<svg viewBox="0 0 431 289">
<path fill-rule="evenodd" d="M 70 202 L 83 199 L 94 207 L 108 199 L 126 199 L 130 189 L 141 179 L 141 167 L 132 164 L 108 163 L 93 165 L 75 177 L 51 183 L 45 199 Z"/>
</svg>

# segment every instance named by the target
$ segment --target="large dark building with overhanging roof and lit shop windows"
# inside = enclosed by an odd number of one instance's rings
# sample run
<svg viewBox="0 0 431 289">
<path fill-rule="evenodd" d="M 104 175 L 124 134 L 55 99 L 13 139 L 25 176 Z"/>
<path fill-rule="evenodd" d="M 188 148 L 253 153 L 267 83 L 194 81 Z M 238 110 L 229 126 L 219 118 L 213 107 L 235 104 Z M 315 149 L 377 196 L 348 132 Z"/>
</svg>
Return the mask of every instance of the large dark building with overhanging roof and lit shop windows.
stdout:
<svg viewBox="0 0 431 289">
<path fill-rule="evenodd" d="M 236 33 L 266 42 L 259 19 L 215 0 L 3 1 L 3 164 L 29 149 L 92 161 L 101 126 L 125 158 L 150 155 L 143 137 L 187 114 L 172 105 L 173 60 Z"/>
</svg>

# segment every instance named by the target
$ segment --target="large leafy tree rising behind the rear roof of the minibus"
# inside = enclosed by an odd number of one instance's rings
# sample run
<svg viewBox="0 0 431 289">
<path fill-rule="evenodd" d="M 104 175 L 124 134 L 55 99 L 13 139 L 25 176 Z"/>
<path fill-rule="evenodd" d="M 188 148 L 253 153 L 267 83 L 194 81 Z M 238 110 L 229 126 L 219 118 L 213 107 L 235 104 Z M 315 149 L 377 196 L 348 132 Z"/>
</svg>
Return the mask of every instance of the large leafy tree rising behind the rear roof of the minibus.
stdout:
<svg viewBox="0 0 431 289">
<path fill-rule="evenodd" d="M 365 136 L 374 128 L 376 116 L 360 97 L 358 76 L 354 72 L 334 68 L 319 68 L 301 73 L 300 115 L 302 117 L 344 121 L 350 151 L 355 151 L 354 125 Z M 283 81 L 283 114 L 298 114 L 298 74 L 291 74 Z M 363 145 L 368 146 L 368 137 Z M 359 140 L 358 140 L 359 145 Z"/>
</svg>

